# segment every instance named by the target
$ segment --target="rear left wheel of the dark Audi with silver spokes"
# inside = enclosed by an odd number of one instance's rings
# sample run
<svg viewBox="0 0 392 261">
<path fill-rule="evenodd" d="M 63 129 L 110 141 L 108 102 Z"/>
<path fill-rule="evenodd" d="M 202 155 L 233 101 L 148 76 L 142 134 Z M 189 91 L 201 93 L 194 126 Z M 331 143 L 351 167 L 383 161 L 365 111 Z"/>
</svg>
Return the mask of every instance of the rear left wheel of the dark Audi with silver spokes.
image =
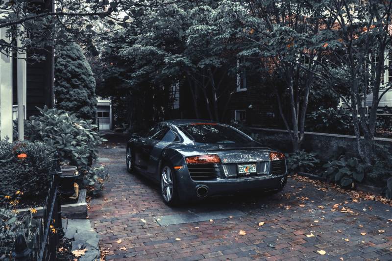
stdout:
<svg viewBox="0 0 392 261">
<path fill-rule="evenodd" d="M 169 206 L 178 205 L 180 202 L 177 182 L 172 166 L 164 164 L 160 172 L 160 191 L 163 201 Z"/>
</svg>

